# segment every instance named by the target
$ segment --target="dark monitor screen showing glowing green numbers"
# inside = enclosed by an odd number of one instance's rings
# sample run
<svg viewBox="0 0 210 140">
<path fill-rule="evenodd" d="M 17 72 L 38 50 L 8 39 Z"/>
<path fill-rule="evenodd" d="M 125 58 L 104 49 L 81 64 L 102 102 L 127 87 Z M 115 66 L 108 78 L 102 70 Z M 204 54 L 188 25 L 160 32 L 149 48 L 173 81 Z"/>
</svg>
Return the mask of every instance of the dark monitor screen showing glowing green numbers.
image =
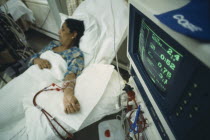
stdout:
<svg viewBox="0 0 210 140">
<path fill-rule="evenodd" d="M 139 56 L 152 82 L 163 92 L 173 77 L 183 55 L 160 38 L 143 19 L 139 34 Z"/>
</svg>

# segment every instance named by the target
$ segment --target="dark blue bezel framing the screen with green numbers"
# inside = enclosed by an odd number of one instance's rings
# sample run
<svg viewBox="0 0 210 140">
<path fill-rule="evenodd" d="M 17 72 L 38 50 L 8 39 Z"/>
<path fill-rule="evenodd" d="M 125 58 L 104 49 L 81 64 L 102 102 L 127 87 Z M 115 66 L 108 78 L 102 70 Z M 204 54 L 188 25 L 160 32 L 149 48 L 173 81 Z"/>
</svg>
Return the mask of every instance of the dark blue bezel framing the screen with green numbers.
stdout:
<svg viewBox="0 0 210 140">
<path fill-rule="evenodd" d="M 153 31 L 166 42 L 170 42 L 171 46 L 175 46 L 176 50 L 183 54 L 183 60 L 180 63 L 179 69 L 174 76 L 173 86 L 168 89 L 168 93 L 163 93 L 152 82 L 147 74 L 144 65 L 141 61 L 141 57 L 138 55 L 138 34 L 140 31 L 141 20 L 145 19 L 151 26 Z M 147 16 L 137 10 L 133 5 L 130 5 L 130 19 L 129 19 L 129 40 L 128 40 L 128 53 L 130 54 L 133 62 L 135 63 L 140 75 L 145 81 L 152 97 L 159 105 L 162 112 L 168 114 L 173 111 L 173 108 L 182 95 L 184 88 L 188 84 L 188 81 L 195 71 L 199 62 L 193 57 L 180 43 L 173 39 L 168 33 L 157 26 Z"/>
</svg>

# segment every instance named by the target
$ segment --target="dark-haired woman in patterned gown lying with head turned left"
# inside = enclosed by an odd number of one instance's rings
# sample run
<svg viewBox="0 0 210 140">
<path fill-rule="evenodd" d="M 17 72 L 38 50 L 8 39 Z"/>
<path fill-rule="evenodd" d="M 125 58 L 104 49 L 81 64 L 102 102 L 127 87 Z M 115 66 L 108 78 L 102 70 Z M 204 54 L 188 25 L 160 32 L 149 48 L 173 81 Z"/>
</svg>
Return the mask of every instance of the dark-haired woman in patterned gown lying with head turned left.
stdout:
<svg viewBox="0 0 210 140">
<path fill-rule="evenodd" d="M 60 54 L 67 63 L 67 72 L 64 75 L 64 111 L 74 113 L 79 111 L 80 105 L 74 96 L 74 86 L 76 77 L 81 74 L 84 68 L 84 56 L 78 48 L 79 40 L 84 33 L 83 21 L 75 19 L 66 19 L 59 30 L 59 43 L 51 42 L 39 53 L 32 56 L 29 65 L 37 64 L 40 69 L 50 69 L 51 64 L 48 60 L 39 58 L 39 56 L 51 50 Z"/>
</svg>

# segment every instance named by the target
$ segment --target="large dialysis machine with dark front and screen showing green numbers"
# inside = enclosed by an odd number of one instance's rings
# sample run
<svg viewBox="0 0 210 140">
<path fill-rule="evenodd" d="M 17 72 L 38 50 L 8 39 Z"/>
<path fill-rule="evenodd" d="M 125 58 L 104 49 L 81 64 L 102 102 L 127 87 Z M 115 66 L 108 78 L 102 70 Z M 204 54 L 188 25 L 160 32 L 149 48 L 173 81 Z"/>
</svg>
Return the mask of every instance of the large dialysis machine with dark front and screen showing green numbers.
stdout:
<svg viewBox="0 0 210 140">
<path fill-rule="evenodd" d="M 154 16 L 187 2 L 129 2 L 127 55 L 149 140 L 210 139 L 210 44 L 175 32 Z"/>
</svg>

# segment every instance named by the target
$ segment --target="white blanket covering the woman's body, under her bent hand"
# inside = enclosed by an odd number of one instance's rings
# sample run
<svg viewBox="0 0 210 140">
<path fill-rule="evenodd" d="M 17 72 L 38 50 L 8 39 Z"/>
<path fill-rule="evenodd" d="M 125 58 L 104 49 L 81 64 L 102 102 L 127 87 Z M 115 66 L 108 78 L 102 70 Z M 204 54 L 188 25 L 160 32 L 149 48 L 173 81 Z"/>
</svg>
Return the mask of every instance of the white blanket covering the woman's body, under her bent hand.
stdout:
<svg viewBox="0 0 210 140">
<path fill-rule="evenodd" d="M 47 51 L 40 57 L 51 62 L 50 70 L 33 65 L 0 90 L 0 139 L 10 139 L 25 127 L 24 98 L 63 79 L 67 64 L 61 56 Z"/>
</svg>

